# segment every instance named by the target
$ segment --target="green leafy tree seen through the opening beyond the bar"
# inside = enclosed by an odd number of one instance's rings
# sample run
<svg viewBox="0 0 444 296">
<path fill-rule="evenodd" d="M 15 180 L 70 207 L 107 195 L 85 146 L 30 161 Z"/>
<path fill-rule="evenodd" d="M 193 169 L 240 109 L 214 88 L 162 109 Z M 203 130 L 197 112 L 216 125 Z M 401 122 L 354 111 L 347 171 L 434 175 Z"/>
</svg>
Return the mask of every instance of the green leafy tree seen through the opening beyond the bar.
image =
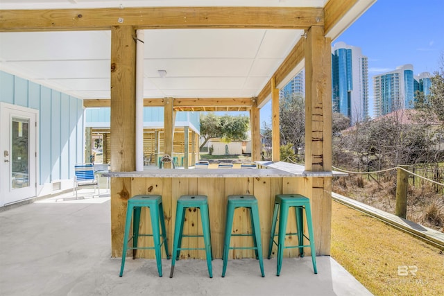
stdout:
<svg viewBox="0 0 444 296">
<path fill-rule="evenodd" d="M 222 138 L 227 142 L 245 140 L 249 128 L 248 116 L 200 114 L 200 137 L 204 139 L 200 148 L 203 148 L 213 138 Z"/>
</svg>

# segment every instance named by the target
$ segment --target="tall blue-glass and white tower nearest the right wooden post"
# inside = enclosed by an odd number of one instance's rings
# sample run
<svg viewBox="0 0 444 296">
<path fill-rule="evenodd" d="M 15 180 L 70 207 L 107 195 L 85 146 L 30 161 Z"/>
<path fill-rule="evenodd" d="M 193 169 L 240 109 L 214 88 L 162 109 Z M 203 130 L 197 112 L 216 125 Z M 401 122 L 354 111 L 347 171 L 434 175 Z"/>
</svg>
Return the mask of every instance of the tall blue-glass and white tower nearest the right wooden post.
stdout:
<svg viewBox="0 0 444 296">
<path fill-rule="evenodd" d="M 332 48 L 332 106 L 353 125 L 368 118 L 368 59 L 359 47 L 337 42 Z"/>
</svg>

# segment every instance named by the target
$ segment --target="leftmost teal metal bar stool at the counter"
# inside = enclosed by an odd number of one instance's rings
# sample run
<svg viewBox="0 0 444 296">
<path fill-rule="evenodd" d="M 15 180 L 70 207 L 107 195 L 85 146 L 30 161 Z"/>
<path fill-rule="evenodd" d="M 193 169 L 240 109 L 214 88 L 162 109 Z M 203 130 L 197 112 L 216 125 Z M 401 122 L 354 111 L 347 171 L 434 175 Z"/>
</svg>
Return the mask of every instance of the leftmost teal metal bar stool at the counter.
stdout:
<svg viewBox="0 0 444 296">
<path fill-rule="evenodd" d="M 140 211 L 142 207 L 148 207 L 150 209 L 152 234 L 139 234 L 139 222 Z M 131 218 L 133 216 L 133 236 L 130 235 Z M 160 226 L 159 226 L 160 221 Z M 162 243 L 160 238 L 160 227 L 162 227 Z M 138 247 L 137 239 L 139 236 L 153 236 L 153 247 Z M 128 247 L 128 242 L 133 239 L 133 247 Z M 162 196 L 160 195 L 135 195 L 128 200 L 128 206 L 126 208 L 126 223 L 125 234 L 123 236 L 123 251 L 122 251 L 122 263 L 120 266 L 120 277 L 123 275 L 123 268 L 125 267 L 126 250 L 133 250 L 133 259 L 136 258 L 138 249 L 143 250 L 155 250 L 155 259 L 157 263 L 157 272 L 159 277 L 162 277 L 162 244 L 165 247 L 167 253 L 167 259 L 170 258 L 167 245 L 167 230 L 165 228 L 164 210 L 162 207 Z"/>
</svg>

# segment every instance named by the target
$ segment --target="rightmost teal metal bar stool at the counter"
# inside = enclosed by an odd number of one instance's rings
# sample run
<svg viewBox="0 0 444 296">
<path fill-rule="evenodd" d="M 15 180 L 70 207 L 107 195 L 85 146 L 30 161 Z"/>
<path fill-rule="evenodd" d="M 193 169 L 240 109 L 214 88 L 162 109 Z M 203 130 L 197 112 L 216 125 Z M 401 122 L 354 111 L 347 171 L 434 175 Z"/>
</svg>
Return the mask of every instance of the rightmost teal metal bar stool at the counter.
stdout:
<svg viewBox="0 0 444 296">
<path fill-rule="evenodd" d="M 289 215 L 290 207 L 294 207 L 296 211 L 296 223 L 297 223 L 297 233 L 286 233 L 287 232 L 287 220 Z M 305 209 L 305 215 L 307 218 L 307 228 L 309 237 L 304 234 L 304 217 L 302 216 L 302 210 Z M 279 213 L 279 231 L 275 234 L 276 220 Z M 298 235 L 298 245 L 296 246 L 285 246 L 285 236 Z M 274 240 L 274 237 L 278 236 L 278 243 Z M 307 238 L 309 245 L 304 245 L 304 238 Z M 313 261 L 314 273 L 318 273 L 316 268 L 316 250 L 314 249 L 314 234 L 313 234 L 313 223 L 311 222 L 311 210 L 310 210 L 310 200 L 300 194 L 278 194 L 275 199 L 275 209 L 273 211 L 273 220 L 271 224 L 271 234 L 270 234 L 270 246 L 268 248 L 268 259 L 271 258 L 271 250 L 273 248 L 273 243 L 278 245 L 278 272 L 277 276 L 280 275 L 280 270 L 282 268 L 282 256 L 284 254 L 284 249 L 287 248 L 299 248 L 299 254 L 301 257 L 304 256 L 304 247 L 310 247 L 311 250 L 311 261 Z"/>
</svg>

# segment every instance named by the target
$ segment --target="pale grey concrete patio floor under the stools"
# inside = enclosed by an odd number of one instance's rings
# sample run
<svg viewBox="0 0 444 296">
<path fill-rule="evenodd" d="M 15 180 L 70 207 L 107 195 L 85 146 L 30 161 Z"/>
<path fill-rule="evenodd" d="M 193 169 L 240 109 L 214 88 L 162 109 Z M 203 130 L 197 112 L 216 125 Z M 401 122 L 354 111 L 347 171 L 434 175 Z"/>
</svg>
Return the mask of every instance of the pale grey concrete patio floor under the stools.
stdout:
<svg viewBox="0 0 444 296">
<path fill-rule="evenodd" d="M 103 190 L 104 191 L 104 190 Z M 101 191 L 101 193 L 103 193 Z M 88 189 L 79 191 L 87 195 Z M 265 277 L 253 259 L 162 261 L 110 256 L 110 196 L 72 199 L 72 193 L 0 212 L 0 295 L 372 295 L 330 256 L 287 258 L 276 277 L 276 259 L 264 260 Z"/>
</svg>

